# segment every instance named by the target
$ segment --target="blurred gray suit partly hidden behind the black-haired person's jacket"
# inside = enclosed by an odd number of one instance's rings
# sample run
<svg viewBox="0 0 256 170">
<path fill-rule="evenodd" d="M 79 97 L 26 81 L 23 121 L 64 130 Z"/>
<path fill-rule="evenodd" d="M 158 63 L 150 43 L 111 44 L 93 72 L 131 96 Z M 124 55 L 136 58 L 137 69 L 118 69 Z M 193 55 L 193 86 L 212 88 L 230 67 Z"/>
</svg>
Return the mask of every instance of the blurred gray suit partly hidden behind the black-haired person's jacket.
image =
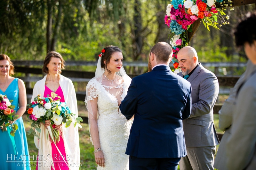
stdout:
<svg viewBox="0 0 256 170">
<path fill-rule="evenodd" d="M 236 93 L 241 84 L 246 80 L 253 70 L 256 69 L 256 66 L 252 64 L 249 60 L 247 63 L 247 68 L 244 74 L 238 79 L 234 88 L 230 89 L 229 97 L 224 102 L 223 106 L 219 111 L 219 128 L 222 131 L 225 131 L 223 137 L 220 141 L 220 146 L 214 159 L 213 167 L 219 170 L 226 170 L 227 168 L 227 156 L 226 156 L 226 144 L 230 136 L 230 127 L 232 125 L 232 118 L 234 114 L 234 107 L 236 102 Z"/>
</svg>

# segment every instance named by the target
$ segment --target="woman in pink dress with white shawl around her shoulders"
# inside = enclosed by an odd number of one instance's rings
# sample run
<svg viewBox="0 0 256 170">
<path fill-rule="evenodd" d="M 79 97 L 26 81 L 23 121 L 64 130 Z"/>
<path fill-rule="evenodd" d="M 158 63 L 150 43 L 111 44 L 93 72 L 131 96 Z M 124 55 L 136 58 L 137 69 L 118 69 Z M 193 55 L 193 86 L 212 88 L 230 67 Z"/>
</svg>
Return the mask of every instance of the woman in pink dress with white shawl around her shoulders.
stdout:
<svg viewBox="0 0 256 170">
<path fill-rule="evenodd" d="M 66 102 L 73 114 L 77 117 L 76 93 L 72 81 L 62 76 L 61 69 L 64 69 L 62 56 L 57 52 L 49 52 L 44 60 L 43 71 L 47 75 L 36 82 L 33 89 L 32 101 L 38 94 L 44 94 L 44 97 L 51 96 L 54 92 L 60 96 L 60 102 Z M 58 100 L 55 98 L 54 100 Z M 50 140 L 47 126 L 51 124 L 50 120 L 46 120 L 41 125 L 41 133 L 37 133 L 40 137 L 34 138 L 36 147 L 38 148 L 37 170 L 54 169 L 68 170 L 79 169 L 80 149 L 78 127 L 65 125 L 53 125 L 53 128 L 60 131 L 60 141 L 54 143 Z M 44 125 L 44 126 L 43 126 Z"/>
</svg>

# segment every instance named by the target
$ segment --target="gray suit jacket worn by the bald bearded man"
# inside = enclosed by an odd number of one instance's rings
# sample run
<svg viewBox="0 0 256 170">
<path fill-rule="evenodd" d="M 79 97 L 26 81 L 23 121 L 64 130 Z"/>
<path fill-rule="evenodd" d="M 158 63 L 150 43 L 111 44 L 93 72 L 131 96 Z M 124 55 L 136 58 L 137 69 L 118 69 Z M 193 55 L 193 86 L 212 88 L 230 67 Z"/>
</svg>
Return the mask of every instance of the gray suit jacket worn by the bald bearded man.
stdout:
<svg viewBox="0 0 256 170">
<path fill-rule="evenodd" d="M 182 77 L 182 73 L 178 73 Z M 213 106 L 219 94 L 216 76 L 201 63 L 187 79 L 192 87 L 192 110 L 183 120 L 186 147 L 215 146 L 220 143 L 213 124 Z"/>
</svg>

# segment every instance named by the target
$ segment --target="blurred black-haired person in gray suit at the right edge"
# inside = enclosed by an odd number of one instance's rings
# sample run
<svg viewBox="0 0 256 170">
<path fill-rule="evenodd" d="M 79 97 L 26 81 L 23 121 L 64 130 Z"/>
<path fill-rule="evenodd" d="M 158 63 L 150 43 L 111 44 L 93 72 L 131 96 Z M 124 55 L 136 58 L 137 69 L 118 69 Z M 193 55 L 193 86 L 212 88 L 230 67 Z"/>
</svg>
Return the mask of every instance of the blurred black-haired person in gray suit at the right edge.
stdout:
<svg viewBox="0 0 256 170">
<path fill-rule="evenodd" d="M 236 46 L 256 65 L 256 12 L 238 24 Z M 236 93 L 230 135 L 227 139 L 228 170 L 256 169 L 256 69 L 244 80 Z M 186 138 L 185 138 L 186 139 Z"/>
</svg>

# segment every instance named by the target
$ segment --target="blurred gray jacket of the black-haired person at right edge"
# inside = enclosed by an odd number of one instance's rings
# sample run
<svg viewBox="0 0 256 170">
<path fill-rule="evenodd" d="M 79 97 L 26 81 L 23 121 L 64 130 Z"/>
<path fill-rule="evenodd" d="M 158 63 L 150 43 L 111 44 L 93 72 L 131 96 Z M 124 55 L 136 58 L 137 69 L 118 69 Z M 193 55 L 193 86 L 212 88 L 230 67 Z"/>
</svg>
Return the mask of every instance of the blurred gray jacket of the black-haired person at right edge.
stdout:
<svg viewBox="0 0 256 170">
<path fill-rule="evenodd" d="M 229 170 L 256 169 L 256 73 L 238 92 L 230 135 L 225 144 Z M 254 156 L 253 156 L 254 155 Z"/>
</svg>

